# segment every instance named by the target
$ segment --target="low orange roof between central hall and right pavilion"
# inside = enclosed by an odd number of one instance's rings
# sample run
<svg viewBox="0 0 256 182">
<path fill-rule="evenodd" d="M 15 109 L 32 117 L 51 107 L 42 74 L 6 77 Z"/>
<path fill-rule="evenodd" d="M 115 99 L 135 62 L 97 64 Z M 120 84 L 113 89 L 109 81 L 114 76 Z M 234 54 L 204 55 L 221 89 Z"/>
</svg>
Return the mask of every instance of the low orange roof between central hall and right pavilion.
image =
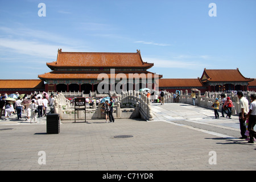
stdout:
<svg viewBox="0 0 256 182">
<path fill-rule="evenodd" d="M 200 87 L 203 86 L 199 78 L 161 78 L 159 87 Z"/>
</svg>

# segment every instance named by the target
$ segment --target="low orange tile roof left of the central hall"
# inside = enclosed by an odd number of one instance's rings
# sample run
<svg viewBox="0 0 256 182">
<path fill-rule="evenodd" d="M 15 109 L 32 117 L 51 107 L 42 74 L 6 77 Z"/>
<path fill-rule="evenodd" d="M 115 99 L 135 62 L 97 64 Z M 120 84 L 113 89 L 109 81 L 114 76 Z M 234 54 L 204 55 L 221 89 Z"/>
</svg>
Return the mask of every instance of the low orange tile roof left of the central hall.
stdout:
<svg viewBox="0 0 256 182">
<path fill-rule="evenodd" d="M 42 88 L 43 80 L 0 80 L 0 89 Z"/>
</svg>

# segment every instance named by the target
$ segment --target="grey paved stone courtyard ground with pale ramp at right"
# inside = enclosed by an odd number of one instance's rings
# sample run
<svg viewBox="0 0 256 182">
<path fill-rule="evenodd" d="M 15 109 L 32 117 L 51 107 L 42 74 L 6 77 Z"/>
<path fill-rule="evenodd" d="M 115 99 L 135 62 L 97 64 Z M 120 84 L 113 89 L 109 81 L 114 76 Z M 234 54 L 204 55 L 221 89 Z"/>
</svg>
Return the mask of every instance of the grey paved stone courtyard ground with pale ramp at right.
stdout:
<svg viewBox="0 0 256 182">
<path fill-rule="evenodd" d="M 238 139 L 202 132 L 195 127 L 174 123 L 177 112 L 167 112 L 175 106 L 183 113 L 196 112 L 196 107 L 181 104 L 152 105 L 158 117 L 146 122 L 116 119 L 114 123 L 90 120 L 87 123 L 64 122 L 59 134 L 46 134 L 46 117 L 38 123 L 0 121 L 0 170 L 90 170 L 90 171 L 159 171 L 159 170 L 255 170 L 256 146 Z M 161 108 L 163 109 L 161 115 Z M 213 111 L 198 109 L 197 121 L 208 119 Z M 169 114 L 164 121 L 163 113 Z M 194 113 L 196 114 L 196 113 Z M 16 116 L 14 116 L 16 117 Z M 182 115 L 179 121 L 188 122 Z M 177 119 L 177 118 L 176 118 Z M 186 120 L 187 119 L 187 120 Z M 192 119 L 193 120 L 193 119 Z M 172 122 L 171 122 L 172 121 Z M 214 122 L 214 119 L 211 120 Z M 217 122 L 217 120 L 216 120 Z M 219 123 L 221 121 L 218 121 Z M 229 122 L 229 121 L 225 121 Z M 236 118 L 230 123 L 236 124 Z M 197 123 L 198 124 L 198 123 Z M 214 123 L 209 123 L 214 125 Z M 216 124 L 217 125 L 217 124 Z M 223 125 L 222 125 L 223 126 Z M 220 127 L 220 125 L 218 126 Z M 236 134 L 235 133 L 235 134 Z M 115 138 L 131 135 L 130 138 Z M 46 164 L 42 162 L 42 153 Z M 216 152 L 216 164 L 210 164 Z M 211 160 L 210 160 L 211 161 Z"/>
</svg>

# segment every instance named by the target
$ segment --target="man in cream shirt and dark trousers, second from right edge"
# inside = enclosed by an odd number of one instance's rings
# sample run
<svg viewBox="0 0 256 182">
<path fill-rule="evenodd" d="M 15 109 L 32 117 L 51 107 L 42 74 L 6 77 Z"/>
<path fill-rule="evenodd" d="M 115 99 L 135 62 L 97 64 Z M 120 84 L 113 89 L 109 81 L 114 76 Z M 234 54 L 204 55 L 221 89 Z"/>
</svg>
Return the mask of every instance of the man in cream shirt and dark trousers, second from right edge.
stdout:
<svg viewBox="0 0 256 182">
<path fill-rule="evenodd" d="M 237 92 L 237 97 L 239 98 L 239 106 L 238 106 L 238 113 L 239 113 L 239 122 L 240 122 L 240 131 L 242 137 L 240 139 L 246 139 L 246 123 L 245 123 L 245 117 L 246 114 L 249 112 L 249 104 L 248 100 L 243 97 L 243 93 L 241 91 Z"/>
</svg>

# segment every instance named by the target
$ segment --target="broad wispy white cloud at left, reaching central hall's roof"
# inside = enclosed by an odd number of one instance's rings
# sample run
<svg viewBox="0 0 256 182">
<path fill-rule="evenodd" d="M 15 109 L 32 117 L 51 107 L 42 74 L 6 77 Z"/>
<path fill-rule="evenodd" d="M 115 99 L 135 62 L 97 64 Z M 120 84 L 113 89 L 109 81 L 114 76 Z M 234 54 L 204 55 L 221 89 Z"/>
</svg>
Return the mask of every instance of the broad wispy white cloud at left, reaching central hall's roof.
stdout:
<svg viewBox="0 0 256 182">
<path fill-rule="evenodd" d="M 58 48 L 65 52 L 86 51 L 84 46 L 79 46 L 84 43 L 46 31 L 0 27 L 0 33 L 0 48 L 5 52 L 55 60 Z"/>
</svg>

